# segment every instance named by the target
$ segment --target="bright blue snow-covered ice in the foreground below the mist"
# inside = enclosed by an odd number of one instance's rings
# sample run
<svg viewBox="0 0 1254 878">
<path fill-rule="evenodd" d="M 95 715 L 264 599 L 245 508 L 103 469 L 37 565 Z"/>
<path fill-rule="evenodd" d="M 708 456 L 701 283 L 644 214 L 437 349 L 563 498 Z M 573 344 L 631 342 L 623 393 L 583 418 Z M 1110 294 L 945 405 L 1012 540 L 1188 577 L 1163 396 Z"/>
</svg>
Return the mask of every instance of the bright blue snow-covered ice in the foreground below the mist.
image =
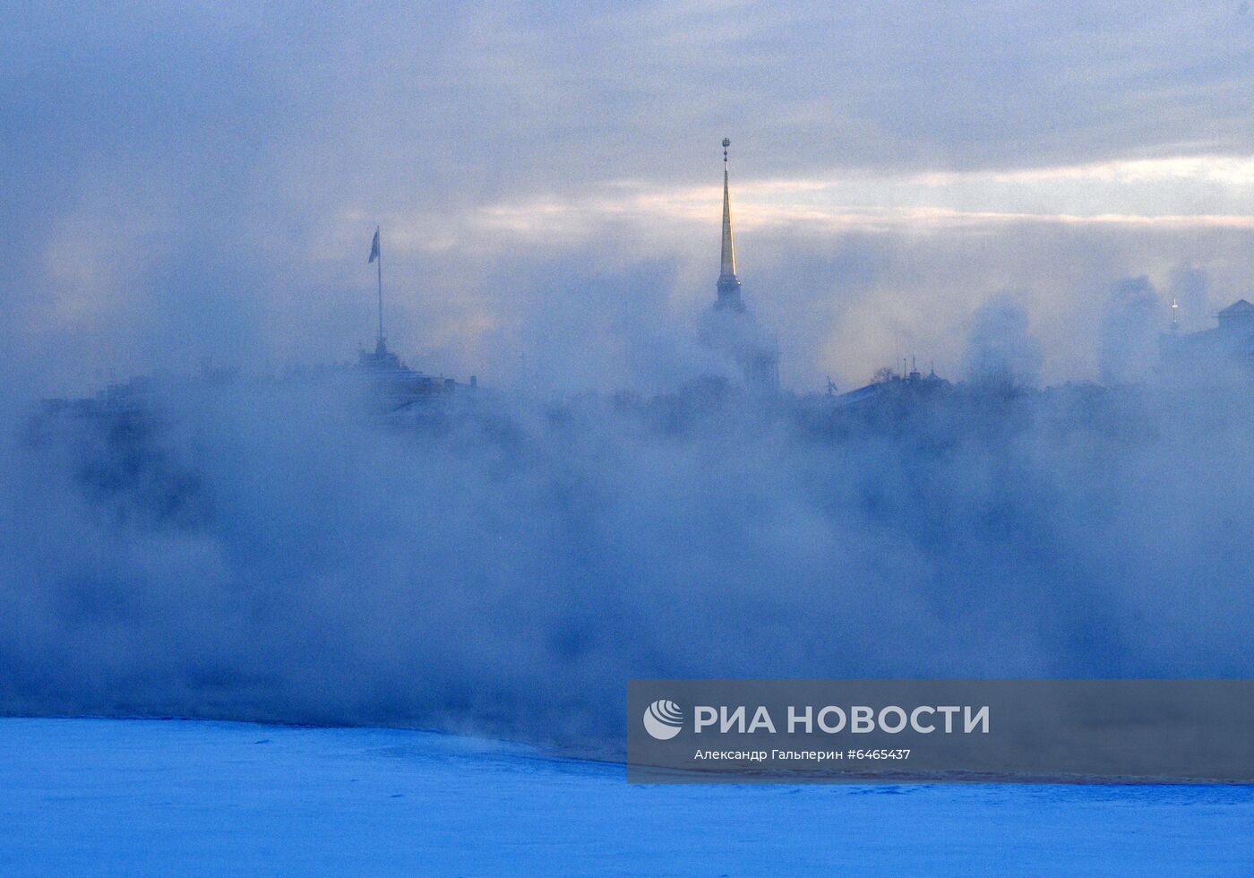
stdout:
<svg viewBox="0 0 1254 878">
<path fill-rule="evenodd" d="M 395 729 L 0 719 L 4 874 L 1254 874 L 1254 788 L 628 785 Z"/>
</svg>

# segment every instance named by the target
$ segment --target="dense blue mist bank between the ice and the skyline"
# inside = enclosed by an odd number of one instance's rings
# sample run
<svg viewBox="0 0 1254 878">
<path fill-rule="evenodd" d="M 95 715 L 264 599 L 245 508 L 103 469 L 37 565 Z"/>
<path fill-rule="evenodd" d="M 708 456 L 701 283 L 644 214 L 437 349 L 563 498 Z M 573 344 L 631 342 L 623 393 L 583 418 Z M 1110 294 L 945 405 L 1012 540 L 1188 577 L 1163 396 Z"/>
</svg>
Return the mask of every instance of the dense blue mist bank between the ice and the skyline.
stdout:
<svg viewBox="0 0 1254 878">
<path fill-rule="evenodd" d="M 13 419 L 0 712 L 614 745 L 630 677 L 1254 674 L 1240 389 L 360 391 Z"/>
</svg>

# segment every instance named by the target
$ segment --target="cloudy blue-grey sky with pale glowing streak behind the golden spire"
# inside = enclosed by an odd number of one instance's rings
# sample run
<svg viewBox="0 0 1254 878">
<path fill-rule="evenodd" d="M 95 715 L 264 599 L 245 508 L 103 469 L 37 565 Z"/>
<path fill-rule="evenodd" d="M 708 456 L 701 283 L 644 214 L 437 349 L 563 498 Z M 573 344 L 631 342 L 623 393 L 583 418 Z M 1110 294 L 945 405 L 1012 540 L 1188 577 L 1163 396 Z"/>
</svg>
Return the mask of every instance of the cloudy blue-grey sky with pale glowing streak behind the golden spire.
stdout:
<svg viewBox="0 0 1254 878">
<path fill-rule="evenodd" d="M 411 364 L 665 389 L 724 135 L 796 390 L 895 351 L 961 376 L 991 300 L 1042 380 L 1097 378 L 1111 327 L 1251 292 L 1243 0 L 311 6 L 0 8 L 6 389 L 352 359 L 376 223 Z M 1162 324 L 1117 314 L 1142 276 Z"/>
</svg>

